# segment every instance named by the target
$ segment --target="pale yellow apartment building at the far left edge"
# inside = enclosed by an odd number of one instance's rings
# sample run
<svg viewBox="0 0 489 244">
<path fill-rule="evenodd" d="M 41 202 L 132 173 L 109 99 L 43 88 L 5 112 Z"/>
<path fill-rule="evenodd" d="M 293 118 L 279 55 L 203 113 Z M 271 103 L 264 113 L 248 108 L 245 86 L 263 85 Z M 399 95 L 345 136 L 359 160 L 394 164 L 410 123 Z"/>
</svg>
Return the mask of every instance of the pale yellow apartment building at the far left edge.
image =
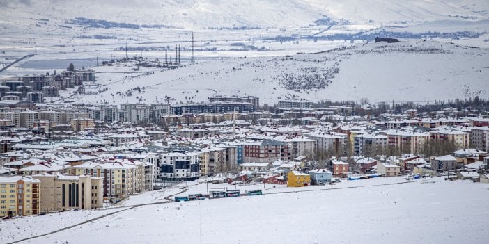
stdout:
<svg viewBox="0 0 489 244">
<path fill-rule="evenodd" d="M 39 184 L 31 177 L 0 177 L 0 216 L 37 215 Z"/>
</svg>

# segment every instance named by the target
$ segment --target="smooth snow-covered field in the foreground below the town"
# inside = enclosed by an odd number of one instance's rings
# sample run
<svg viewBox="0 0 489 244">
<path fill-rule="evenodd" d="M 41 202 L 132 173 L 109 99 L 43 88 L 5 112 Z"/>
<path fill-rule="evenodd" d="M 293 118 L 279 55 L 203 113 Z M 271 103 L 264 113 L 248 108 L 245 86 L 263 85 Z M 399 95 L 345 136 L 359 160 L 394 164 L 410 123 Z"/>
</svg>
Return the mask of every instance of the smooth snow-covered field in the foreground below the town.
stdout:
<svg viewBox="0 0 489 244">
<path fill-rule="evenodd" d="M 404 180 L 277 186 L 271 190 L 294 192 L 139 206 L 24 243 L 486 243 L 487 184 L 430 178 L 378 186 Z M 192 184 L 196 182 L 187 183 L 188 193 L 205 193 L 204 183 Z M 224 186 L 234 187 L 212 185 Z M 357 187 L 310 191 L 348 186 Z M 72 221 L 65 217 L 72 213 L 59 213 L 59 222 Z M 43 217 L 12 220 L 8 226 L 30 225 L 39 234 L 47 232 L 49 225 L 35 225 L 36 218 Z M 12 231 L 3 228 L 2 236 Z M 15 231 L 8 236 L 4 242 L 29 234 Z"/>
</svg>

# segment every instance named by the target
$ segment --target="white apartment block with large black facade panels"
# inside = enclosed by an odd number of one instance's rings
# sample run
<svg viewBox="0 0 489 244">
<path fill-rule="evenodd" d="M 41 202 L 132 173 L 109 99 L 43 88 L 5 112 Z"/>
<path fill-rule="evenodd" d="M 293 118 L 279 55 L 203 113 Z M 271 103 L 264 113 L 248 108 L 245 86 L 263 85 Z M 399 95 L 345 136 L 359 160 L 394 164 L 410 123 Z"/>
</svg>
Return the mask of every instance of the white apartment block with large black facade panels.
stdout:
<svg viewBox="0 0 489 244">
<path fill-rule="evenodd" d="M 160 155 L 160 178 L 193 181 L 201 175 L 201 153 L 174 150 Z"/>
</svg>

